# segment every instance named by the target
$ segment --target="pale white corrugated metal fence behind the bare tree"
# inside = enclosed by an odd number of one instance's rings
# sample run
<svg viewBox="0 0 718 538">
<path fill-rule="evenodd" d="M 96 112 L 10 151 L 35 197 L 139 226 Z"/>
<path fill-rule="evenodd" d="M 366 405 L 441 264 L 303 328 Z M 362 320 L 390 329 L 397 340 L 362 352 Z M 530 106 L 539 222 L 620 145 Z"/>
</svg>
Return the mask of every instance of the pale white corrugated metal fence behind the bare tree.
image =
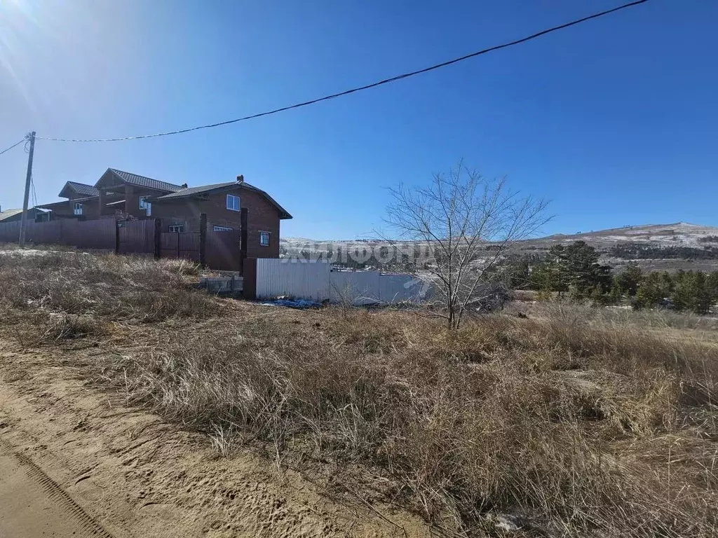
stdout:
<svg viewBox="0 0 718 538">
<path fill-rule="evenodd" d="M 426 288 L 411 275 L 332 270 L 320 261 L 256 260 L 256 298 L 279 296 L 355 305 L 416 303 L 426 298 Z"/>
</svg>

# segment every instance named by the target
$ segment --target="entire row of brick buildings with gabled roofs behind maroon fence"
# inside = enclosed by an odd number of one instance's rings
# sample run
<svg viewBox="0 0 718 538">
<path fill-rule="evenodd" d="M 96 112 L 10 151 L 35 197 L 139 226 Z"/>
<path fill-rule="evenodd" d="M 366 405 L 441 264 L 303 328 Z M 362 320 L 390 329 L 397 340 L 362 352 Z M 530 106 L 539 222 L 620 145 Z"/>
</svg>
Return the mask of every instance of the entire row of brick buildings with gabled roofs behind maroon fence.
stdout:
<svg viewBox="0 0 718 538">
<path fill-rule="evenodd" d="M 45 204 L 52 219 L 94 220 L 121 216 L 160 220 L 162 232 L 199 232 L 200 214 L 209 230 L 240 230 L 247 209 L 246 253 L 250 258 L 279 258 L 279 222 L 292 215 L 269 194 L 237 181 L 187 187 L 109 168 L 94 185 L 67 181 L 62 202 Z"/>
</svg>

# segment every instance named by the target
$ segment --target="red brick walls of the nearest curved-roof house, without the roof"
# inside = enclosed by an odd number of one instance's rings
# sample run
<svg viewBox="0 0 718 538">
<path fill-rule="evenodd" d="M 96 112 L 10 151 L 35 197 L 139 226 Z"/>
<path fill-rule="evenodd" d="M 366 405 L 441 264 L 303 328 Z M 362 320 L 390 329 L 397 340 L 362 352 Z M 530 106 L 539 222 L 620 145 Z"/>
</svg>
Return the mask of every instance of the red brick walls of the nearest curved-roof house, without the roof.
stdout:
<svg viewBox="0 0 718 538">
<path fill-rule="evenodd" d="M 162 231 L 170 225 L 185 225 L 185 232 L 198 232 L 200 214 L 207 214 L 207 227 L 230 227 L 240 230 L 240 212 L 227 209 L 227 194 L 240 197 L 241 207 L 247 208 L 247 256 L 248 258 L 279 258 L 279 212 L 256 192 L 238 187 L 232 192 L 212 194 L 208 199 L 180 198 L 174 202 L 152 205 L 152 216 L 162 219 Z M 259 232 L 269 232 L 269 246 L 259 244 Z"/>
</svg>

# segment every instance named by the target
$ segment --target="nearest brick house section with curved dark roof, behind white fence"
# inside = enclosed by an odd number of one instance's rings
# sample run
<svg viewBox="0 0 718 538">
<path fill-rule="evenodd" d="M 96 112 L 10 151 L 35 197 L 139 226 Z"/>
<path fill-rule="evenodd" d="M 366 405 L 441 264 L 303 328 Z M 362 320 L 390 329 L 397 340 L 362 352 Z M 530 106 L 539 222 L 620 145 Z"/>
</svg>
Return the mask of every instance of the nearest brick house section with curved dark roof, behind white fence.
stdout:
<svg viewBox="0 0 718 538">
<path fill-rule="evenodd" d="M 248 258 L 279 258 L 279 222 L 292 215 L 266 192 L 244 181 L 189 187 L 149 199 L 163 232 L 197 232 L 200 214 L 210 230 L 239 230 L 241 208 L 247 211 Z"/>
</svg>

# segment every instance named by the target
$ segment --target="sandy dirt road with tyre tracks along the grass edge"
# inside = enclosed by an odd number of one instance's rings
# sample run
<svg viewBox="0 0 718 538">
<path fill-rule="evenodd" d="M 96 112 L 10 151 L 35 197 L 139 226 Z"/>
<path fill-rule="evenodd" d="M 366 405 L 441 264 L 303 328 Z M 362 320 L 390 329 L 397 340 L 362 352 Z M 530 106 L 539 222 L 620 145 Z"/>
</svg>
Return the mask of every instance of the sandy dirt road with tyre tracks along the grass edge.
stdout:
<svg viewBox="0 0 718 538">
<path fill-rule="evenodd" d="M 321 467 L 220 458 L 206 436 L 126 407 L 80 375 L 108 352 L 128 351 L 0 334 L 0 538 L 429 537 L 414 515 L 327 491 Z"/>
</svg>

